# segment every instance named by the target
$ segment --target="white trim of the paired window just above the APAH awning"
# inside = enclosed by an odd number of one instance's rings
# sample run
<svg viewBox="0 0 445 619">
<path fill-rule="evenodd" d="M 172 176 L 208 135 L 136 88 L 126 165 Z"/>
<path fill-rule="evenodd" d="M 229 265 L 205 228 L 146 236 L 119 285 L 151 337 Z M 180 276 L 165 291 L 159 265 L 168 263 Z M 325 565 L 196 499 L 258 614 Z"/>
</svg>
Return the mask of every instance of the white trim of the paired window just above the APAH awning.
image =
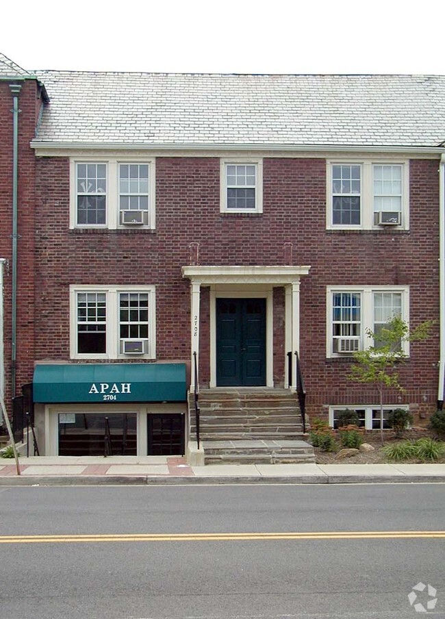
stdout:
<svg viewBox="0 0 445 619">
<path fill-rule="evenodd" d="M 77 353 L 77 292 L 105 292 L 107 303 L 107 353 Z M 119 293 L 144 292 L 149 295 L 149 345 L 147 354 L 123 355 L 119 338 Z M 155 286 L 70 286 L 70 356 L 71 359 L 155 359 L 156 305 Z"/>
</svg>

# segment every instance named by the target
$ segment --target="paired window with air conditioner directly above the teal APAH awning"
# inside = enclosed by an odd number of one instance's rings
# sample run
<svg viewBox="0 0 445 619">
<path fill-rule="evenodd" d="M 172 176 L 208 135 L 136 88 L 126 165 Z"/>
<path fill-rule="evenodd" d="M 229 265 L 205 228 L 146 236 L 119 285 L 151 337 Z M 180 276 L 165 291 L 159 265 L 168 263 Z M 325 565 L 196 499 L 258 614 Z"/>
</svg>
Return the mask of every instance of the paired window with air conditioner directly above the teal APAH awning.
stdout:
<svg viewBox="0 0 445 619">
<path fill-rule="evenodd" d="M 73 359 L 155 358 L 154 286 L 71 286 Z"/>
</svg>

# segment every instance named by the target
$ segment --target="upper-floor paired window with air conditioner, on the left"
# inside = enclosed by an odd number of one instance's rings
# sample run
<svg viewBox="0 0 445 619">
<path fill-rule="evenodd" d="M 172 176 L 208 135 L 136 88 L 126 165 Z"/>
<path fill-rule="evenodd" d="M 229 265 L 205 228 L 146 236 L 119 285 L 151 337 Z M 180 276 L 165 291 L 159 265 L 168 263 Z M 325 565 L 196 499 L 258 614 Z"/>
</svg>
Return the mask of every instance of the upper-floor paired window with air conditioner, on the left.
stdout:
<svg viewBox="0 0 445 619">
<path fill-rule="evenodd" d="M 71 161 L 70 227 L 155 227 L 155 163 Z"/>
</svg>

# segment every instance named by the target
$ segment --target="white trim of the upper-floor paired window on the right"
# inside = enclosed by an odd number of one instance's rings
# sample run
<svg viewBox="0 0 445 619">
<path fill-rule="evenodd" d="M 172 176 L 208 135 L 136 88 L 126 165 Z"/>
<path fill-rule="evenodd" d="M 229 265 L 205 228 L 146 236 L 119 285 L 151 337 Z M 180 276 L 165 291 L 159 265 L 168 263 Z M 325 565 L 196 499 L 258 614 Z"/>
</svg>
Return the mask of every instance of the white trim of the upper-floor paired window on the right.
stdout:
<svg viewBox="0 0 445 619">
<path fill-rule="evenodd" d="M 409 229 L 409 160 L 387 159 L 357 159 L 346 157 L 342 159 L 327 160 L 326 170 L 326 195 L 327 195 L 327 229 L 328 230 L 381 230 L 382 226 L 374 224 L 374 190 L 372 166 L 402 166 L 402 205 L 400 226 L 390 229 Z M 334 224 L 332 220 L 332 166 L 359 165 L 361 168 L 360 184 L 360 225 Z"/>
</svg>

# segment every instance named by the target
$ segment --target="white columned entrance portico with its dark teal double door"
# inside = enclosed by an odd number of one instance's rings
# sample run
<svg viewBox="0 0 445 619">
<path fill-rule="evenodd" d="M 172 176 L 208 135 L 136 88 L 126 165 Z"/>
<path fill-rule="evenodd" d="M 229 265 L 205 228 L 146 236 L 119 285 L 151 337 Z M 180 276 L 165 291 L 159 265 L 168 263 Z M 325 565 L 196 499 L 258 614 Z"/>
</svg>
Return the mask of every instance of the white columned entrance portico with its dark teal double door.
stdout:
<svg viewBox="0 0 445 619">
<path fill-rule="evenodd" d="M 285 290 L 285 350 L 293 353 L 299 349 L 300 281 L 303 275 L 309 273 L 309 269 L 310 266 L 183 266 L 182 276 L 190 279 L 191 290 L 192 367 L 195 353 L 196 360 L 199 361 L 201 289 L 210 289 L 210 387 L 273 387 L 272 291 L 277 287 Z M 226 318 L 224 312 L 227 314 Z M 238 314 L 244 316 L 240 329 L 236 326 Z M 220 324 L 223 325 L 222 328 Z M 228 325 L 227 329 L 225 325 Z M 241 333 L 241 338 L 244 339 L 238 341 L 238 333 Z M 237 359 L 232 358 L 236 355 L 244 355 L 246 358 L 243 360 L 240 357 L 240 363 L 237 364 Z M 241 379 L 247 380 L 246 383 L 240 381 L 238 370 L 234 370 L 233 375 L 226 378 L 225 368 L 229 368 L 230 375 L 231 368 L 237 366 L 247 368 L 247 378 L 242 375 Z M 260 366 L 264 366 L 264 373 L 261 375 L 261 370 L 258 370 L 255 374 Z M 288 366 L 284 357 L 283 366 L 285 386 L 291 384 L 294 390 L 296 364 L 292 364 L 292 377 L 288 377 Z M 220 367 L 223 370 L 220 370 Z M 254 376 L 253 382 L 249 372 Z M 194 388 L 194 372 L 191 387 Z"/>
</svg>

